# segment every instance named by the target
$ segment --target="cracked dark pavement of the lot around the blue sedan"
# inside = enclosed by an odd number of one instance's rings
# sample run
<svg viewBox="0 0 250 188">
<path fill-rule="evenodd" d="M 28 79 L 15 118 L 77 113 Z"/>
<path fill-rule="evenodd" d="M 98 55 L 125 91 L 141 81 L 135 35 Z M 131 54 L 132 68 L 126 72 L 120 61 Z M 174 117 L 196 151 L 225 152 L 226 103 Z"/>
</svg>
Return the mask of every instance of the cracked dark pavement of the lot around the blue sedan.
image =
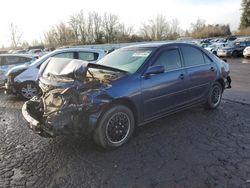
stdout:
<svg viewBox="0 0 250 188">
<path fill-rule="evenodd" d="M 0 187 L 250 187 L 250 60 L 229 59 L 215 111 L 195 107 L 136 130 L 114 151 L 33 134 L 22 101 L 0 94 Z"/>
</svg>

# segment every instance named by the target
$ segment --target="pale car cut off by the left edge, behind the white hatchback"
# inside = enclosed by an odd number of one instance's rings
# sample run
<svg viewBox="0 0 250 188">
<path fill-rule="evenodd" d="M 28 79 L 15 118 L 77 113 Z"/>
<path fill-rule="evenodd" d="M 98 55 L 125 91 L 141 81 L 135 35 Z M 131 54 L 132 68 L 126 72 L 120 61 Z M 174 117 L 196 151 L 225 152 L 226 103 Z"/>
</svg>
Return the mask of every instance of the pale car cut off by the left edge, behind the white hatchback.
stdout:
<svg viewBox="0 0 250 188">
<path fill-rule="evenodd" d="M 0 54 L 0 85 L 6 81 L 6 73 L 13 67 L 29 65 L 36 57 L 28 54 Z"/>
</svg>

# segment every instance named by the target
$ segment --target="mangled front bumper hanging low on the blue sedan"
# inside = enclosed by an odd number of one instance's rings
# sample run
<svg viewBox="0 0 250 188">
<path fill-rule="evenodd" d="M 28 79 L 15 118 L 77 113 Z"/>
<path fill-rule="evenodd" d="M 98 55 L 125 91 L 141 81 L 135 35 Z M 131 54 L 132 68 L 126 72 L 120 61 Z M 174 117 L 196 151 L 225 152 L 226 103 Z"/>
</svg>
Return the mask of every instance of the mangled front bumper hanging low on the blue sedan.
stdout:
<svg viewBox="0 0 250 188">
<path fill-rule="evenodd" d="M 22 107 L 23 117 L 28 122 L 28 127 L 43 137 L 78 133 L 89 134 L 94 130 L 97 122 L 93 115 L 88 115 L 79 108 L 57 111 L 41 121 L 39 119 L 42 119 L 42 115 L 35 115 L 36 112 L 34 112 L 32 105 L 36 105 L 32 100 L 24 103 Z"/>
</svg>

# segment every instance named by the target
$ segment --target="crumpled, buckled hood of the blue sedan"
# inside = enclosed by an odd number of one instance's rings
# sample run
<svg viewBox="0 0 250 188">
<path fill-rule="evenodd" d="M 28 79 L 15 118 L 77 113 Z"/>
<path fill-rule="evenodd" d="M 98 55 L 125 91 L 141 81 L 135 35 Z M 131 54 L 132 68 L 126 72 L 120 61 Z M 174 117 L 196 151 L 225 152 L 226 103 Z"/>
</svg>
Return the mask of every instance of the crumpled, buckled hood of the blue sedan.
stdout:
<svg viewBox="0 0 250 188">
<path fill-rule="evenodd" d="M 96 71 L 92 71 L 91 68 Z M 50 58 L 42 64 L 38 79 L 40 84 L 53 87 L 71 87 L 72 84 L 78 87 L 86 84 L 86 80 L 111 82 L 124 76 L 124 73 L 126 71 L 87 61 Z M 92 79 L 87 79 L 87 75 Z"/>
</svg>

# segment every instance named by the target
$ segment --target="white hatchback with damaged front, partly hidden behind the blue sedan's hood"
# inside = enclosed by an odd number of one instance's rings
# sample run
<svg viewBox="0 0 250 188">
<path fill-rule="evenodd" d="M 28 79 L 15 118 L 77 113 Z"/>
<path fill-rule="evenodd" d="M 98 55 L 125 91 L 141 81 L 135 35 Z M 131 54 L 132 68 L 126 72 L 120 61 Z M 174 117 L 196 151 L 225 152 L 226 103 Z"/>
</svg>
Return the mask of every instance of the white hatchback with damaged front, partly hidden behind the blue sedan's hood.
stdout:
<svg viewBox="0 0 250 188">
<path fill-rule="evenodd" d="M 18 94 L 24 99 L 30 99 L 37 95 L 39 86 L 36 79 L 39 68 L 43 62 L 50 57 L 61 57 L 70 59 L 80 59 L 95 63 L 106 55 L 104 50 L 87 48 L 65 48 L 50 52 L 40 59 L 37 59 L 30 65 L 17 66 L 8 71 L 8 77 L 5 83 L 5 94 Z"/>
</svg>

